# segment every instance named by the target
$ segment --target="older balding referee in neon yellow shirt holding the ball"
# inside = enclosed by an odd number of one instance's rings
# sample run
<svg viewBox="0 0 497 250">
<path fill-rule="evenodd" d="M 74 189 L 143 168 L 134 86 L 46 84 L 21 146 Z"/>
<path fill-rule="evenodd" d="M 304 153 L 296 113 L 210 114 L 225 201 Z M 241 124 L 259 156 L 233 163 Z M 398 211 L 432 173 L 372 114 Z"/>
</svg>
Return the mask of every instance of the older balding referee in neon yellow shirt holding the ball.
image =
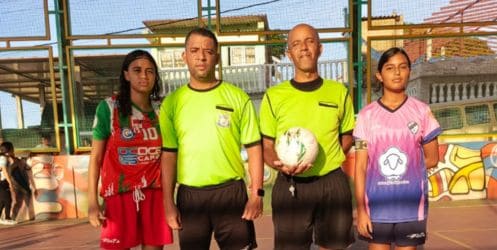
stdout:
<svg viewBox="0 0 497 250">
<path fill-rule="evenodd" d="M 293 79 L 269 88 L 261 103 L 264 161 L 279 171 L 272 192 L 275 249 L 344 249 L 354 242 L 352 193 L 341 169 L 352 146 L 354 107 L 348 89 L 319 76 L 317 31 L 299 24 L 288 33 Z M 275 139 L 291 127 L 310 130 L 319 144 L 312 165 L 285 166 Z"/>
</svg>

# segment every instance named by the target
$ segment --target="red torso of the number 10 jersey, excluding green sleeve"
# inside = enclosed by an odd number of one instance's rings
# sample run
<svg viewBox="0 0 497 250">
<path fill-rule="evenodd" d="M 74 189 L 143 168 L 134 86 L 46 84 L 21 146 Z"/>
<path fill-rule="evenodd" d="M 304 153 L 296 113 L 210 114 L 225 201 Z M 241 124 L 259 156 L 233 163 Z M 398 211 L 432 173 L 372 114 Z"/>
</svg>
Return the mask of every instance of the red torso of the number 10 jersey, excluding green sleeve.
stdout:
<svg viewBox="0 0 497 250">
<path fill-rule="evenodd" d="M 154 106 L 155 113 L 148 115 L 132 107 L 129 125 L 122 126 L 116 98 L 109 98 L 107 104 L 112 113 L 111 134 L 107 139 L 100 170 L 100 195 L 109 197 L 135 189 L 160 188 L 161 136 L 158 109 Z"/>
</svg>

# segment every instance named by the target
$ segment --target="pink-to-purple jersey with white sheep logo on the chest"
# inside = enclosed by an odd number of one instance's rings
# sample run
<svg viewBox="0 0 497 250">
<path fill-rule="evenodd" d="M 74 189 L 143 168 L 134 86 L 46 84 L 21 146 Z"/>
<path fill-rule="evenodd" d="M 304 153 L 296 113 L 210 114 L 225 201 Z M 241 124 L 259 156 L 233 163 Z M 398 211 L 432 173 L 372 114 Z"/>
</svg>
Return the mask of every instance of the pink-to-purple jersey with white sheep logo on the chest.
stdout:
<svg viewBox="0 0 497 250">
<path fill-rule="evenodd" d="M 441 133 L 425 103 L 408 97 L 391 110 L 380 101 L 363 108 L 354 137 L 368 143 L 365 204 L 371 221 L 424 220 L 428 183 L 423 145 Z"/>
</svg>

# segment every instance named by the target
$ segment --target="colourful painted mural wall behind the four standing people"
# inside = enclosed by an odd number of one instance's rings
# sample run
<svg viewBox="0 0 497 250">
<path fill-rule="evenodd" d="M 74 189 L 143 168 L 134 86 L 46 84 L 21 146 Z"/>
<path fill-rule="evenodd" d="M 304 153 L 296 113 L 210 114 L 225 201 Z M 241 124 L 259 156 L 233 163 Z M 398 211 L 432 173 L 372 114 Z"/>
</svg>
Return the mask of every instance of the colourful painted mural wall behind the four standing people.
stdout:
<svg viewBox="0 0 497 250">
<path fill-rule="evenodd" d="M 497 199 L 497 142 L 441 144 L 440 162 L 428 172 L 431 201 Z M 38 196 L 34 199 L 37 218 L 87 217 L 88 155 L 36 155 L 32 166 Z M 354 154 L 343 166 L 354 175 Z M 276 172 L 266 167 L 265 186 L 270 189 Z M 266 203 L 268 206 L 270 203 Z M 23 208 L 21 218 L 28 219 Z"/>
</svg>

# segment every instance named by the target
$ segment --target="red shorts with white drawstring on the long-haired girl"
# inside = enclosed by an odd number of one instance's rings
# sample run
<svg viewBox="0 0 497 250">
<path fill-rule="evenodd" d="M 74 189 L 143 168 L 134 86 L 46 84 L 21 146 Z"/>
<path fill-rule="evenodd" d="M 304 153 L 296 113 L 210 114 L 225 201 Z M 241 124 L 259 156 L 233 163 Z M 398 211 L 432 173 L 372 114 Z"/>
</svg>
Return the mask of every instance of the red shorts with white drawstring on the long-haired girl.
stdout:
<svg viewBox="0 0 497 250">
<path fill-rule="evenodd" d="M 122 249 L 141 244 L 171 244 L 173 234 L 164 213 L 160 189 L 143 189 L 105 198 L 106 220 L 100 234 L 100 247 Z"/>
</svg>

